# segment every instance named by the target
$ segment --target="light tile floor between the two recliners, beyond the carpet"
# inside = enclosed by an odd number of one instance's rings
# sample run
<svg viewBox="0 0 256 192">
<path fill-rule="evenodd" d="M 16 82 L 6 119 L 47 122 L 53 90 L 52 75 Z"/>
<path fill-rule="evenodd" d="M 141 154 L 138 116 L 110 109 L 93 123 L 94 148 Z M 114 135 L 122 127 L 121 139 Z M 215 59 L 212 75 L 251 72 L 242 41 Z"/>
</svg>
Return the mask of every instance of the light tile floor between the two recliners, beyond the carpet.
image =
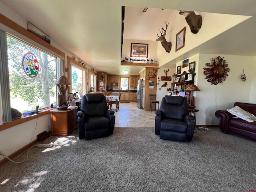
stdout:
<svg viewBox="0 0 256 192">
<path fill-rule="evenodd" d="M 115 127 L 155 127 L 155 112 L 139 109 L 136 102 L 119 103 L 119 110 L 112 105 L 115 112 Z"/>
</svg>

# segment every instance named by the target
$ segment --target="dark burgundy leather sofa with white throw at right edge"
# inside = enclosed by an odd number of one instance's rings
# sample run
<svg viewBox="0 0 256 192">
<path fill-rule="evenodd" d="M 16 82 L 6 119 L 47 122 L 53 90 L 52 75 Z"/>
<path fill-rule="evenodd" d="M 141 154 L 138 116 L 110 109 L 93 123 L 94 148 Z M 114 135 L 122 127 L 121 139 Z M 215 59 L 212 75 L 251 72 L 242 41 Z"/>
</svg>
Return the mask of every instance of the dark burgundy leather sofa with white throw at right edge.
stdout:
<svg viewBox="0 0 256 192">
<path fill-rule="evenodd" d="M 256 116 L 256 104 L 250 103 L 234 103 L 234 106 L 239 106 L 245 111 Z M 252 140 L 256 140 L 256 121 L 247 122 L 229 113 L 227 110 L 218 110 L 215 116 L 220 118 L 220 130 L 223 133 L 234 133 L 245 136 Z"/>
</svg>

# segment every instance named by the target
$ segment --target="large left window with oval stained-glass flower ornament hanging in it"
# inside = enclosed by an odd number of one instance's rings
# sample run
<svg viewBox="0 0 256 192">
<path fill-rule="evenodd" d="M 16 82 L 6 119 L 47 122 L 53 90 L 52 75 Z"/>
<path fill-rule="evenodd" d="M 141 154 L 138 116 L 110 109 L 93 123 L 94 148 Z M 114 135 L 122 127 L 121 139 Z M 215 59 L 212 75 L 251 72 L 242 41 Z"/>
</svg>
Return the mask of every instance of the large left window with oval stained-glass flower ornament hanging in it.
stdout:
<svg viewBox="0 0 256 192">
<path fill-rule="evenodd" d="M 11 107 L 20 112 L 56 104 L 56 57 L 7 36 Z"/>
</svg>

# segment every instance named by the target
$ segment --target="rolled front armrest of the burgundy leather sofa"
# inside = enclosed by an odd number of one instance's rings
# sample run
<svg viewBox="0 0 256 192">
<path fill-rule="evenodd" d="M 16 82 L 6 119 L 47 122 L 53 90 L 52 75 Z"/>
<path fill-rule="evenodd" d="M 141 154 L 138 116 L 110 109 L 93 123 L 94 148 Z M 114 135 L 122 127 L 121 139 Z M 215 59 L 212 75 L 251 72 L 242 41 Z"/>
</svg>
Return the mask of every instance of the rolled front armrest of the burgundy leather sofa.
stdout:
<svg viewBox="0 0 256 192">
<path fill-rule="evenodd" d="M 228 122 L 234 115 L 227 110 L 218 110 L 215 112 L 215 116 L 220 118 L 220 130 L 224 133 L 228 133 Z"/>
</svg>

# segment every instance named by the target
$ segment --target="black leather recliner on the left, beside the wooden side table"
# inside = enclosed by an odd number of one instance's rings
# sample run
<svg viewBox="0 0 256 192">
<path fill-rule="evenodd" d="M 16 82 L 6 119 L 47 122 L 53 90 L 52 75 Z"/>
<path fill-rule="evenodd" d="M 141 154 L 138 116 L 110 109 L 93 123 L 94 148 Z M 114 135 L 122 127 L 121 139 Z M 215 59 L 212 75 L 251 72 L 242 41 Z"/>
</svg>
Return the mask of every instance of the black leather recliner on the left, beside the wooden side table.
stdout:
<svg viewBox="0 0 256 192">
<path fill-rule="evenodd" d="M 78 116 L 78 136 L 80 139 L 106 137 L 113 133 L 116 116 L 108 110 L 106 97 L 101 94 L 85 94 L 81 98 Z"/>
</svg>

